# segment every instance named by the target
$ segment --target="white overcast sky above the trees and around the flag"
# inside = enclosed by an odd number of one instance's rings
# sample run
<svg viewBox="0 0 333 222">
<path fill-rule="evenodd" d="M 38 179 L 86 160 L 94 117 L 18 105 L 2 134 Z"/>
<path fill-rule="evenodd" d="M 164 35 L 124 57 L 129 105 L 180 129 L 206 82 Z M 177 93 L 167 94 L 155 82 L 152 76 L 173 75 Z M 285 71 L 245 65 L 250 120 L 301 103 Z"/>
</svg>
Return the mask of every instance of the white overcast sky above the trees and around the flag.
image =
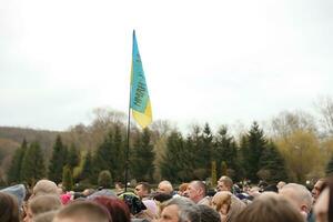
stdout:
<svg viewBox="0 0 333 222">
<path fill-rule="evenodd" d="M 127 113 L 132 30 L 154 119 L 268 120 L 333 94 L 332 0 L 1 0 L 0 125 Z"/>
</svg>

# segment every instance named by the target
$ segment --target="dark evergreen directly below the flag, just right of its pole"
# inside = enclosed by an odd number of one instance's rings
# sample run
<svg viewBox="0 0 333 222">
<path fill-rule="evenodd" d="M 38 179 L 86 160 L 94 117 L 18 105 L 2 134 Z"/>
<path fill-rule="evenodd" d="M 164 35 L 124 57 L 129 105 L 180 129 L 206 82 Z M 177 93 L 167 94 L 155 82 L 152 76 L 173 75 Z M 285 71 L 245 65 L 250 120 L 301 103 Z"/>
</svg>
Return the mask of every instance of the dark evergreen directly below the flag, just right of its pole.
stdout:
<svg viewBox="0 0 333 222">
<path fill-rule="evenodd" d="M 131 158 L 131 171 L 139 181 L 153 180 L 154 172 L 154 151 L 151 144 L 151 132 L 145 128 L 142 134 L 139 134 Z"/>
</svg>

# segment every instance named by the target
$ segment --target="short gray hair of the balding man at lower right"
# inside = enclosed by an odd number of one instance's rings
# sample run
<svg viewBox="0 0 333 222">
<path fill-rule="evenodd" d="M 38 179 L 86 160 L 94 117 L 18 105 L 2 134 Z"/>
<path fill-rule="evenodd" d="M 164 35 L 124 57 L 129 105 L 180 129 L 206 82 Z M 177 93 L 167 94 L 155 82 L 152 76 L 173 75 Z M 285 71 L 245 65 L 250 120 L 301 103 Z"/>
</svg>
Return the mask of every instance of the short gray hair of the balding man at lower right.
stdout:
<svg viewBox="0 0 333 222">
<path fill-rule="evenodd" d="M 286 190 L 290 189 L 294 192 L 294 198 L 296 199 L 295 201 L 297 203 L 303 203 L 306 205 L 307 208 L 307 213 L 311 211 L 312 209 L 312 203 L 313 203 L 313 198 L 311 195 L 311 192 L 301 184 L 297 183 L 287 183 L 285 184 L 281 190 Z"/>
</svg>

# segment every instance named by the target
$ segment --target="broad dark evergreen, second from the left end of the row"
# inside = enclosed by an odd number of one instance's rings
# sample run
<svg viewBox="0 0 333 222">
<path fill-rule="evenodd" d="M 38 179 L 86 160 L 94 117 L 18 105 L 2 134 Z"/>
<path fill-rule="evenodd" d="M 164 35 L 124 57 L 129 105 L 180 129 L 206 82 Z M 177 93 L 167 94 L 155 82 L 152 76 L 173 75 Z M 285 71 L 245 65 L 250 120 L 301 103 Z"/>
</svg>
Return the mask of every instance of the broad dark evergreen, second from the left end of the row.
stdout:
<svg viewBox="0 0 333 222">
<path fill-rule="evenodd" d="M 21 176 L 30 185 L 46 176 L 44 159 L 38 142 L 32 142 L 26 151 Z"/>
</svg>

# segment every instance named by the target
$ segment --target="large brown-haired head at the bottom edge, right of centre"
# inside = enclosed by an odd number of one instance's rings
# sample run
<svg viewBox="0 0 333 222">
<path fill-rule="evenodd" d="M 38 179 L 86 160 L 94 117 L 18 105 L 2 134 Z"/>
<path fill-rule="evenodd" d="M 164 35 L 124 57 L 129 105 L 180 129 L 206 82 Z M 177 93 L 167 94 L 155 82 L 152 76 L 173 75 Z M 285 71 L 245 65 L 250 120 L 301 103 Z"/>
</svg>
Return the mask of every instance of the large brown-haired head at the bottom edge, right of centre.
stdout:
<svg viewBox="0 0 333 222">
<path fill-rule="evenodd" d="M 304 222 L 304 219 L 286 199 L 265 192 L 249 204 L 234 222 Z"/>
</svg>

